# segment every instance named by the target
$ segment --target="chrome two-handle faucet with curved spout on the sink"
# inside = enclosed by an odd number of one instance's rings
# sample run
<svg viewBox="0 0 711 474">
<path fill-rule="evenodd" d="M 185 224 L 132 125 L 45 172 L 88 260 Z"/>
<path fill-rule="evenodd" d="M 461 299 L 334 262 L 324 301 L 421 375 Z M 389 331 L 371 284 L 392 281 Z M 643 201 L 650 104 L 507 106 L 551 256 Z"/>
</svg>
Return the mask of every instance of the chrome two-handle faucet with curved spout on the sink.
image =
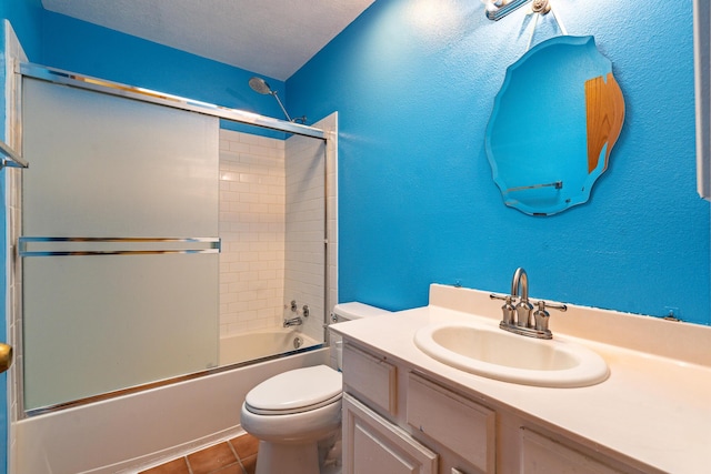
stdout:
<svg viewBox="0 0 711 474">
<path fill-rule="evenodd" d="M 511 279 L 511 294 L 491 293 L 490 297 L 504 300 L 501 311 L 503 317 L 499 327 L 515 334 L 537 339 L 552 339 L 553 334 L 548 329 L 550 313 L 545 307 L 565 311 L 568 306 L 559 303 L 550 303 L 543 300 L 535 302 L 538 309 L 533 311 L 533 305 L 529 301 L 529 276 L 525 270 L 518 268 Z M 518 300 L 518 303 L 514 302 Z"/>
</svg>

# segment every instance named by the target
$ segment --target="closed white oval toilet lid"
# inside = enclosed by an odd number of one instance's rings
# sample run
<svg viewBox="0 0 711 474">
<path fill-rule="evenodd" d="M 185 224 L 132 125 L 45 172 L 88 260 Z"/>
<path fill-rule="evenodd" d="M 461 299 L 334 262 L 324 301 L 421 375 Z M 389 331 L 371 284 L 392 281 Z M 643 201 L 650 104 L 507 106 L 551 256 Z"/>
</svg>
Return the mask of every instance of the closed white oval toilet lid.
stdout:
<svg viewBox="0 0 711 474">
<path fill-rule="evenodd" d="M 316 365 L 266 380 L 249 391 L 244 404 L 257 414 L 298 413 L 340 400 L 342 390 L 340 372 L 327 365 Z"/>
</svg>

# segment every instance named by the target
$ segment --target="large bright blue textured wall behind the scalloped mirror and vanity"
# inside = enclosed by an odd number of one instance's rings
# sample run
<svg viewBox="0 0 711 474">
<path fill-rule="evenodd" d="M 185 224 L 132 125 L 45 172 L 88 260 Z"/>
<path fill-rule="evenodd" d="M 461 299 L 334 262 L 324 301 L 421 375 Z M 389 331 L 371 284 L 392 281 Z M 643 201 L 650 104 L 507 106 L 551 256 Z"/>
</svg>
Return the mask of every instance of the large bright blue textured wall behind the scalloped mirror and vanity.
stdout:
<svg viewBox="0 0 711 474">
<path fill-rule="evenodd" d="M 523 266 L 534 297 L 711 323 L 691 1 L 555 4 L 613 62 L 627 119 L 591 200 L 554 216 L 505 208 L 484 153 L 523 9 L 491 22 L 478 1 L 378 0 L 287 81 L 292 109 L 339 111 L 342 301 L 423 305 L 432 282 L 507 292 Z M 548 16 L 537 41 L 555 30 Z"/>
</svg>

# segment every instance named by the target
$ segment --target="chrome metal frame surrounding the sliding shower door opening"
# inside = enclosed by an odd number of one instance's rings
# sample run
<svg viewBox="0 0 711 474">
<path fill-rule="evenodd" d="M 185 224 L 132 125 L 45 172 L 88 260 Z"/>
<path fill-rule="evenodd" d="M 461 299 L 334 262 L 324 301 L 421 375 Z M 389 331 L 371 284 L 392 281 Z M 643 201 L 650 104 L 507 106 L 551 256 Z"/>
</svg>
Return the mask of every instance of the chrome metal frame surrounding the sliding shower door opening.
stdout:
<svg viewBox="0 0 711 474">
<path fill-rule="evenodd" d="M 79 73 L 74 73 L 74 72 L 60 70 L 60 69 L 54 69 L 54 68 L 49 68 L 49 67 L 44 67 L 44 65 L 33 64 L 33 63 L 29 63 L 29 62 L 18 62 L 16 64 L 16 67 L 14 67 L 14 73 L 18 77 L 17 83 L 19 84 L 20 89 L 21 89 L 21 84 L 22 84 L 21 78 L 22 77 L 27 77 L 27 78 L 42 80 L 42 81 L 47 81 L 47 82 L 51 82 L 51 83 L 69 85 L 69 87 L 72 87 L 72 88 L 78 88 L 78 89 L 89 90 L 89 91 L 104 93 L 104 94 L 109 94 L 109 95 L 120 97 L 120 98 L 124 98 L 124 99 L 129 99 L 129 100 L 137 100 L 137 101 L 141 101 L 141 102 L 148 102 L 148 103 L 169 107 L 169 108 L 173 108 L 173 109 L 184 110 L 184 111 L 189 111 L 189 112 L 194 112 L 194 113 L 206 114 L 206 115 L 210 115 L 210 117 L 216 117 L 216 118 L 219 118 L 219 119 L 228 120 L 230 122 L 236 122 L 236 123 L 246 124 L 246 125 L 252 125 L 252 127 L 257 127 L 257 128 L 260 128 L 260 129 L 267 129 L 267 130 L 284 132 L 284 133 L 289 133 L 289 134 L 296 134 L 296 135 L 313 138 L 313 139 L 322 140 L 323 143 L 324 143 L 324 152 L 323 152 L 323 223 L 324 223 L 324 225 L 323 225 L 323 315 L 322 315 L 322 319 L 323 319 L 323 321 L 322 321 L 322 326 L 323 326 L 322 341 L 323 342 L 321 344 L 318 344 L 318 345 L 314 345 L 314 346 L 311 346 L 311 347 L 294 350 L 294 351 L 291 351 L 291 352 L 286 353 L 286 354 L 277 354 L 277 355 L 259 359 L 259 360 L 256 360 L 256 361 L 247 361 L 247 362 L 242 362 L 242 363 L 238 363 L 238 364 L 230 364 L 230 365 L 220 365 L 220 366 L 214 367 L 214 369 L 208 369 L 208 370 L 204 370 L 204 371 L 188 373 L 188 374 L 183 374 L 183 375 L 171 377 L 171 379 L 167 379 L 167 380 L 161 380 L 161 381 L 156 381 L 156 382 L 152 382 L 152 383 L 130 386 L 130 387 L 126 387 L 126 389 L 118 390 L 118 391 L 97 394 L 97 395 L 92 395 L 92 396 L 89 396 L 89 397 L 86 397 L 86 399 L 80 399 L 80 400 L 70 401 L 70 402 L 66 402 L 66 403 L 59 403 L 57 405 L 52 405 L 52 406 L 48 406 L 48 407 L 40 407 L 40 409 L 31 410 L 31 411 L 27 411 L 24 409 L 24 406 L 23 406 L 23 397 L 19 395 L 19 393 L 22 393 L 22 379 L 23 379 L 21 362 L 19 362 L 18 364 L 16 364 L 14 367 L 12 367 L 12 370 L 16 372 L 14 380 L 17 381 L 17 385 L 18 385 L 18 389 L 19 389 L 18 395 L 17 395 L 17 401 L 16 401 L 17 402 L 17 413 L 16 413 L 17 420 L 22 420 L 22 418 L 26 418 L 26 417 L 31 417 L 31 416 L 36 416 L 36 415 L 40 415 L 40 414 L 44 414 L 44 413 L 51 413 L 51 412 L 56 412 L 56 411 L 59 411 L 59 410 L 64 410 L 64 409 L 73 407 L 73 406 L 86 405 L 86 404 L 99 402 L 99 401 L 102 401 L 102 400 L 113 399 L 113 397 L 117 397 L 117 396 L 128 395 L 128 394 L 131 394 L 131 393 L 137 393 L 137 392 L 141 392 L 141 391 L 149 390 L 149 389 L 156 389 L 156 387 L 163 386 L 163 385 L 169 385 L 169 384 L 173 384 L 173 383 L 178 383 L 178 382 L 183 382 L 183 381 L 188 381 L 188 380 L 192 380 L 192 379 L 202 377 L 202 376 L 206 376 L 206 375 L 216 374 L 216 373 L 219 373 L 219 372 L 224 372 L 224 371 L 239 369 L 239 367 L 242 367 L 242 366 L 246 366 L 246 365 L 253 364 L 256 362 L 264 362 L 264 361 L 269 361 L 269 360 L 280 359 L 280 357 L 283 357 L 283 356 L 291 355 L 291 354 L 309 352 L 309 351 L 313 351 L 313 350 L 317 350 L 317 349 L 320 349 L 320 347 L 323 347 L 323 346 L 328 346 L 328 344 L 329 344 L 329 341 L 328 341 L 328 325 L 330 323 L 330 317 L 329 317 L 329 302 L 330 302 L 329 301 L 330 300 L 330 284 L 329 284 L 329 280 L 330 280 L 329 279 L 329 275 L 330 275 L 329 212 L 330 212 L 330 209 L 329 209 L 329 202 L 328 202 L 329 201 L 329 192 L 330 192 L 329 180 L 328 180 L 329 172 L 330 172 L 330 168 L 329 168 L 329 144 L 330 144 L 330 142 L 332 142 L 333 144 L 336 143 L 336 141 L 334 141 L 336 140 L 336 133 L 330 132 L 330 131 L 326 131 L 326 130 L 321 130 L 321 129 L 316 128 L 316 127 L 310 127 L 310 125 L 296 123 L 296 122 L 291 122 L 291 121 L 284 121 L 284 120 L 280 120 L 280 119 L 264 117 L 264 115 L 260 115 L 260 114 L 252 113 L 252 112 L 247 112 L 247 111 L 239 110 L 239 109 L 230 109 L 230 108 L 226 108 L 226 107 L 221 107 L 221 105 L 217 105 L 217 104 L 212 104 L 212 103 L 208 103 L 208 102 L 202 102 L 202 101 L 198 101 L 198 100 L 192 100 L 192 99 L 189 99 L 189 98 L 183 98 L 183 97 L 169 94 L 169 93 L 164 93 L 164 92 L 160 92 L 160 91 L 148 90 L 148 89 L 143 89 L 143 88 L 137 88 L 137 87 L 132 87 L 132 85 L 121 84 L 121 83 L 113 82 L 113 81 L 92 78 L 92 77 L 88 77 L 88 75 L 84 75 L 84 74 L 79 74 Z M 21 100 L 19 98 L 21 97 L 21 90 L 18 92 L 17 97 L 18 97 L 18 102 L 20 102 Z M 16 109 L 18 110 L 19 114 L 21 114 L 21 112 L 20 112 L 21 103 L 17 103 L 16 104 Z M 336 161 L 333 161 L 333 163 L 336 164 Z M 31 165 L 31 163 L 30 163 L 30 165 Z M 18 245 L 18 246 L 21 246 L 21 245 Z M 21 256 L 21 255 L 16 255 L 16 259 L 18 256 Z M 16 278 L 21 281 L 21 278 L 22 278 L 21 276 L 21 271 L 16 274 Z M 19 297 L 16 301 L 18 303 L 14 305 L 14 307 L 12 307 L 12 312 L 14 314 L 12 314 L 11 317 L 14 321 L 20 321 L 21 320 L 21 315 L 22 315 L 22 306 L 21 306 L 22 305 L 22 303 L 21 303 L 22 299 Z M 21 354 L 22 353 L 22 343 L 21 343 L 21 339 L 22 337 L 21 337 L 21 334 L 14 334 L 14 336 L 11 337 L 11 339 L 13 340 L 12 342 L 16 345 L 16 347 L 18 349 L 17 352 Z"/>
</svg>

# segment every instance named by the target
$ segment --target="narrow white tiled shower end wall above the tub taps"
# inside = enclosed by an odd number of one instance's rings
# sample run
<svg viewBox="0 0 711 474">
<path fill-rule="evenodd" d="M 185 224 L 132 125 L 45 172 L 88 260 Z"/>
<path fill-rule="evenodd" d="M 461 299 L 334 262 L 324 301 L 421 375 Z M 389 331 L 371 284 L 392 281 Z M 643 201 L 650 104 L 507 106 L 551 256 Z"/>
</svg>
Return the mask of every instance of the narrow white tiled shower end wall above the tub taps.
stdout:
<svg viewBox="0 0 711 474">
<path fill-rule="evenodd" d="M 314 124 L 333 137 L 336 114 Z M 331 160 L 336 157 L 334 140 L 329 141 L 329 202 L 334 199 L 334 172 Z M 287 140 L 287 236 L 284 301 L 296 300 L 299 312 L 309 305 L 311 315 L 306 319 L 302 331 L 317 339 L 323 337 L 324 312 L 330 312 L 330 302 L 336 294 L 324 294 L 324 152 L 326 144 L 316 139 L 291 137 Z M 336 265 L 336 206 L 329 204 L 329 280 L 333 284 L 331 266 Z M 324 304 L 327 307 L 324 307 Z M 287 312 L 289 315 L 290 312 Z"/>
</svg>

